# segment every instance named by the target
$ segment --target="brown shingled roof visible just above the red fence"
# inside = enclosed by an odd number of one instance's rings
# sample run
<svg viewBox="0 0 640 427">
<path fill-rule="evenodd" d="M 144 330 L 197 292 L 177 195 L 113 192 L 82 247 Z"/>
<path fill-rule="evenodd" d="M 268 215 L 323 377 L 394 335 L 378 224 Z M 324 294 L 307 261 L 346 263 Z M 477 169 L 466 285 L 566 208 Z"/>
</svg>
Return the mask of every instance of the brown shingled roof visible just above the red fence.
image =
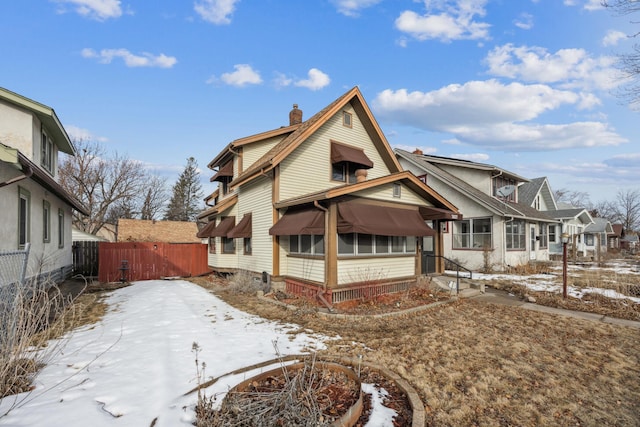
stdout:
<svg viewBox="0 0 640 427">
<path fill-rule="evenodd" d="M 118 242 L 200 243 L 198 227 L 188 221 L 156 221 L 143 219 L 118 220 Z"/>
</svg>

